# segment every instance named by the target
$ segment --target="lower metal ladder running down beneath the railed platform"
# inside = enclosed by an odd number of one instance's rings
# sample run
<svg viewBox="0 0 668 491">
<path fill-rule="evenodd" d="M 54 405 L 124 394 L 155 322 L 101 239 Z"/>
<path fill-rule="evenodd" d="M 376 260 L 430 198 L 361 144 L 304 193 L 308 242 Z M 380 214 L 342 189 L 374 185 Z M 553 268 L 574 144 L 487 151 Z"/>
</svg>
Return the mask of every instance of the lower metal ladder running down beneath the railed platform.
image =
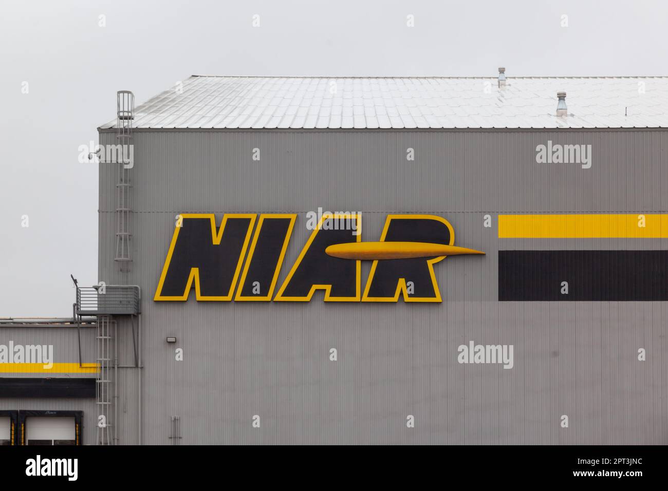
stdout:
<svg viewBox="0 0 668 491">
<path fill-rule="evenodd" d="M 110 431 L 112 428 L 112 412 L 114 411 L 112 379 L 110 366 L 112 364 L 112 318 L 110 315 L 98 316 L 98 379 L 96 383 L 96 396 L 98 405 L 98 445 L 113 445 L 114 436 Z M 103 417 L 104 420 L 100 417 Z"/>
</svg>

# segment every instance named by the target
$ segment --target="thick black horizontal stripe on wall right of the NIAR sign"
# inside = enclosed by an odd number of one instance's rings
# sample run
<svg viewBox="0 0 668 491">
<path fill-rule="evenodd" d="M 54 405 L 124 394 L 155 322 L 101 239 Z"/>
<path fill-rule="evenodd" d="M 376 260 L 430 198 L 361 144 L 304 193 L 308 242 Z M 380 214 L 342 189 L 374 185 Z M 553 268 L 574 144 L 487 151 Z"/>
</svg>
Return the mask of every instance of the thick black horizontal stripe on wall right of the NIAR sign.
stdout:
<svg viewBox="0 0 668 491">
<path fill-rule="evenodd" d="M 499 251 L 498 275 L 499 301 L 668 301 L 668 251 Z"/>
</svg>

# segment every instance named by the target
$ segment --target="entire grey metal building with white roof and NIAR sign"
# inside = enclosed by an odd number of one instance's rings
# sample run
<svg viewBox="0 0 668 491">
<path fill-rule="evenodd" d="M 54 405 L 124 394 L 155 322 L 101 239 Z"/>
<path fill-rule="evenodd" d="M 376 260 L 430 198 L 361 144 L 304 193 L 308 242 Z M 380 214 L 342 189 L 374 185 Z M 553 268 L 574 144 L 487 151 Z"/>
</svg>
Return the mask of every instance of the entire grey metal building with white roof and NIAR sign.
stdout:
<svg viewBox="0 0 668 491">
<path fill-rule="evenodd" d="M 0 324 L 54 363 L 8 359 L 0 440 L 668 443 L 668 77 L 193 76 L 118 101 L 104 284 L 67 323 Z"/>
</svg>

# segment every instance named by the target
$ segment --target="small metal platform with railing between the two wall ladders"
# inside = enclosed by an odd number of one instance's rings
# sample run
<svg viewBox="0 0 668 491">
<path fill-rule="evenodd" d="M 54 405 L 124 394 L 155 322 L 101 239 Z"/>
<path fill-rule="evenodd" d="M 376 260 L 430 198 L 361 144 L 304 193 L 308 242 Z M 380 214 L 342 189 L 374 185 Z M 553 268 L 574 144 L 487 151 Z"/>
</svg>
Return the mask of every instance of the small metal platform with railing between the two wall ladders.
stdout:
<svg viewBox="0 0 668 491">
<path fill-rule="evenodd" d="M 136 285 L 77 286 L 77 315 L 135 315 L 140 298 Z"/>
</svg>

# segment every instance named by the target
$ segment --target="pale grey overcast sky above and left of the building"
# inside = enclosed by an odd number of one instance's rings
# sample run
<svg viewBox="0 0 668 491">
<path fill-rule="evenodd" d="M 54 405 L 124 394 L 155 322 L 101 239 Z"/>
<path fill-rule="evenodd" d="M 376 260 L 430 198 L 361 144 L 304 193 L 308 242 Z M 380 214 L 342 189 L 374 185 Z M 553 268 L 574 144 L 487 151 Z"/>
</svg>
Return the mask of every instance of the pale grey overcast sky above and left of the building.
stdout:
<svg viewBox="0 0 668 491">
<path fill-rule="evenodd" d="M 71 315 L 69 274 L 97 283 L 98 170 L 77 156 L 117 90 L 140 104 L 193 74 L 668 75 L 660 0 L 0 5 L 0 317 Z"/>
</svg>

